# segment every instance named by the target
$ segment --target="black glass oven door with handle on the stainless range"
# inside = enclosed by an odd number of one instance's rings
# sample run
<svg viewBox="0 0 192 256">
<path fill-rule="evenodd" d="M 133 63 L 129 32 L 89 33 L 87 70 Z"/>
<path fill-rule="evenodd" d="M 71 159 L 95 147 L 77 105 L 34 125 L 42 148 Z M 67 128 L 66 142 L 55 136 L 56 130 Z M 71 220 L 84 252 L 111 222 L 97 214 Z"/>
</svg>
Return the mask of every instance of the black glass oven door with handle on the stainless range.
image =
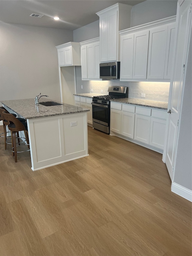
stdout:
<svg viewBox="0 0 192 256">
<path fill-rule="evenodd" d="M 92 102 L 93 122 L 101 125 L 110 125 L 110 105 Z"/>
</svg>

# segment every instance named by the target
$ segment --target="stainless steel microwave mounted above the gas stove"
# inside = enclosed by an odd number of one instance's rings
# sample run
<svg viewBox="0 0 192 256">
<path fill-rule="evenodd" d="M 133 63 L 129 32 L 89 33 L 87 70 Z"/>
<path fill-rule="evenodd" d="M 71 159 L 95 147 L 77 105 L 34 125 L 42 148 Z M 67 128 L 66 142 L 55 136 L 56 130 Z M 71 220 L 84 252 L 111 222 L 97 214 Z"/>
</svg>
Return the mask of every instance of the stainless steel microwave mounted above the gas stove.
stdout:
<svg viewBox="0 0 192 256">
<path fill-rule="evenodd" d="M 120 62 L 100 63 L 100 78 L 102 79 L 119 79 Z"/>
</svg>

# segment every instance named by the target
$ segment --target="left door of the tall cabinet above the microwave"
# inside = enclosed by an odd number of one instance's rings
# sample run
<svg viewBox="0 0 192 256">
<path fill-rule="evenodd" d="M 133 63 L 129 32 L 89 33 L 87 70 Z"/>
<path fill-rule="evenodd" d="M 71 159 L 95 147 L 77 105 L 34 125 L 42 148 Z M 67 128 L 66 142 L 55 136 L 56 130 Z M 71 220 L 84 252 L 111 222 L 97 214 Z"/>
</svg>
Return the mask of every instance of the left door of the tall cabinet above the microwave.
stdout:
<svg viewBox="0 0 192 256">
<path fill-rule="evenodd" d="M 99 17 L 99 31 L 100 31 L 100 61 L 106 62 L 108 52 L 108 15 L 103 14 Z"/>
</svg>

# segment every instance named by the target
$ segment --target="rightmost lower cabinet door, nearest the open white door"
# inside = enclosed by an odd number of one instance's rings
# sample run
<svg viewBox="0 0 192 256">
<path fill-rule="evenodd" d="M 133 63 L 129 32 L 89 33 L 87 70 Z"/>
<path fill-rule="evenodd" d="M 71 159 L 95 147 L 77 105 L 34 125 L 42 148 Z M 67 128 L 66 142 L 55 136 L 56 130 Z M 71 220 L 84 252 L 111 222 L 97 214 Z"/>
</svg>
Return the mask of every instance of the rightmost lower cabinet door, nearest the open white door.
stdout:
<svg viewBox="0 0 192 256">
<path fill-rule="evenodd" d="M 166 120 L 151 118 L 149 144 L 164 149 Z"/>
</svg>

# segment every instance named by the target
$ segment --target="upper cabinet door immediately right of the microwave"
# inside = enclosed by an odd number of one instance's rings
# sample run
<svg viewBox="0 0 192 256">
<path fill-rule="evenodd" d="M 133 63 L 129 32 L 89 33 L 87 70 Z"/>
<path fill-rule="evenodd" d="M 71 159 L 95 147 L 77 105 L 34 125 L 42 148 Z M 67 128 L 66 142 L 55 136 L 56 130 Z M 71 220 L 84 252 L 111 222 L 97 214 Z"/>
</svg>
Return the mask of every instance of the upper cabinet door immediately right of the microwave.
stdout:
<svg viewBox="0 0 192 256">
<path fill-rule="evenodd" d="M 133 75 L 134 34 L 121 36 L 120 78 L 131 79 Z"/>
</svg>

